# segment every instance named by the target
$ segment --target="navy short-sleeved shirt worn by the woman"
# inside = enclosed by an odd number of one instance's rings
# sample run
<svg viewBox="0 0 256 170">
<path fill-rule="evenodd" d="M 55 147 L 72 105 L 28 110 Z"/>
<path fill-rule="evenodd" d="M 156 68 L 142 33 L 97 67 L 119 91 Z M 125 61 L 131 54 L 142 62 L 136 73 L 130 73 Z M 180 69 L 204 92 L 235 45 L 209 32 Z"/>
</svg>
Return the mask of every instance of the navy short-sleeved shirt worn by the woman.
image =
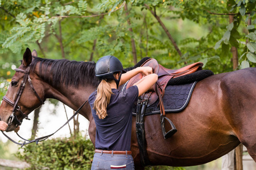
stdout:
<svg viewBox="0 0 256 170">
<path fill-rule="evenodd" d="M 106 118 L 98 118 L 96 111 L 92 109 L 92 115 L 96 123 L 96 148 L 102 150 L 130 151 L 131 150 L 131 110 L 138 99 L 138 87 L 132 86 L 119 92 L 112 89 L 113 95 L 107 107 Z M 97 91 L 89 96 L 90 107 Z"/>
</svg>

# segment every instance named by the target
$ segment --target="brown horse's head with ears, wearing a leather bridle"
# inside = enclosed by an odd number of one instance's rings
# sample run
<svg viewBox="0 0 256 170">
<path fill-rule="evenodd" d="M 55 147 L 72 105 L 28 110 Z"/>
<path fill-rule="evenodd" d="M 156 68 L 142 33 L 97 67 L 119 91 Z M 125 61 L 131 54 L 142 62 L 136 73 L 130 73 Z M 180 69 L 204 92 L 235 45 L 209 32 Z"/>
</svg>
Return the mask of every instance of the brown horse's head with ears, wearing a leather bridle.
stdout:
<svg viewBox="0 0 256 170">
<path fill-rule="evenodd" d="M 23 118 L 43 104 L 43 84 L 39 76 L 30 71 L 32 56 L 37 57 L 36 51 L 31 53 L 27 48 L 0 105 L 0 120 L 9 124 L 6 131 L 14 130 Z"/>
</svg>

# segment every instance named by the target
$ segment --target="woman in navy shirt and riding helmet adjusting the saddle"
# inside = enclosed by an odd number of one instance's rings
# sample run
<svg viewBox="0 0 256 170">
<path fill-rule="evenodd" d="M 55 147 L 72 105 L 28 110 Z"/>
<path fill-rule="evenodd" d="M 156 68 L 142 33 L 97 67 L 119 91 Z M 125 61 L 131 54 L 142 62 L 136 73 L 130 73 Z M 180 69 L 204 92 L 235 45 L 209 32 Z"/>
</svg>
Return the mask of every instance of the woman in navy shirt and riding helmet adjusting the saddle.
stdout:
<svg viewBox="0 0 256 170">
<path fill-rule="evenodd" d="M 138 83 L 127 90 L 117 90 L 118 86 L 139 73 L 145 76 Z M 89 97 L 96 123 L 92 169 L 134 169 L 130 151 L 131 109 L 138 96 L 158 80 L 158 75 L 152 74 L 151 67 L 137 67 L 125 73 L 122 63 L 114 56 L 100 58 L 95 74 L 101 83 Z"/>
</svg>

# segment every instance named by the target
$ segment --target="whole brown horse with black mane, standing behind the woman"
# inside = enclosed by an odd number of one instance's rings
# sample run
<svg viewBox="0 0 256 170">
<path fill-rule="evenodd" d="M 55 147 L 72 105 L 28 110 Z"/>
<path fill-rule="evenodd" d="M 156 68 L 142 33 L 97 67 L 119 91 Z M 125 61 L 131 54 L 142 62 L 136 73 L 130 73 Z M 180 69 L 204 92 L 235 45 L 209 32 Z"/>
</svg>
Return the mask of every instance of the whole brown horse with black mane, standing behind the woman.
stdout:
<svg viewBox="0 0 256 170">
<path fill-rule="evenodd" d="M 32 57 L 33 56 L 33 57 Z M 19 110 L 29 114 L 42 105 L 47 98 L 53 98 L 77 108 L 96 89 L 98 80 L 94 76 L 93 62 L 42 59 L 26 50 L 22 65 L 16 70 L 6 97 L 16 100 L 16 93 L 31 67 L 32 86 L 26 86 L 18 101 Z M 32 90 L 35 89 L 36 94 Z M 192 166 L 208 163 L 227 154 L 242 143 L 256 161 L 256 69 L 248 68 L 231 73 L 209 76 L 195 86 L 191 101 L 183 111 L 167 114 L 174 122 L 177 133 L 164 139 L 160 128 L 159 114 L 145 117 L 147 154 L 151 165 Z M 9 122 L 13 111 L 10 102 L 2 101 L 0 118 Z M 14 110 L 18 120 L 26 117 Z M 89 104 L 80 114 L 90 121 L 89 135 L 95 142 L 96 126 Z M 15 129 L 15 123 L 6 131 Z M 139 149 L 133 117 L 131 150 L 135 167 L 141 167 Z"/>
</svg>

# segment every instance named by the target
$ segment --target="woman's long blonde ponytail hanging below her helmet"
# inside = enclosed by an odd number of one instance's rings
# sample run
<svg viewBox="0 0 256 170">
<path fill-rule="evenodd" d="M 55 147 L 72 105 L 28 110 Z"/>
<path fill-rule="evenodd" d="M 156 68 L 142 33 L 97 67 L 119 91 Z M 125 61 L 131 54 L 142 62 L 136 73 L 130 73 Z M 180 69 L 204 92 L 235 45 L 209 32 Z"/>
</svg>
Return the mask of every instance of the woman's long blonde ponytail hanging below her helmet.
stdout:
<svg viewBox="0 0 256 170">
<path fill-rule="evenodd" d="M 108 114 L 106 113 L 106 107 L 110 102 L 110 97 L 112 95 L 112 89 L 105 79 L 101 80 L 101 83 L 97 88 L 97 95 L 94 101 L 93 109 L 96 110 L 98 118 L 104 119 Z"/>
</svg>

